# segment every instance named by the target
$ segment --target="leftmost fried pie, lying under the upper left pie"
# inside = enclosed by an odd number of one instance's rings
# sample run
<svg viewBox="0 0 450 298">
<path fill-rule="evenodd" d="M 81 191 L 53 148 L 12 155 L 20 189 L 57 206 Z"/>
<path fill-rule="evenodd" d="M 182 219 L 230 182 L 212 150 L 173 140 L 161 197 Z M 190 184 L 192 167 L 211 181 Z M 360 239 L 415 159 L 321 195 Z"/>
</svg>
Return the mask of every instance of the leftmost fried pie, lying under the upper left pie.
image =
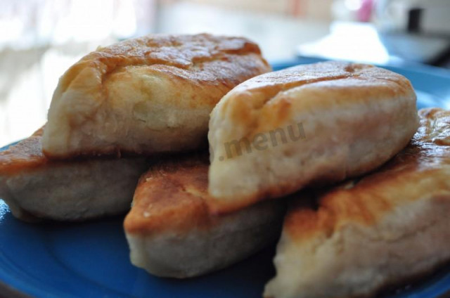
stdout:
<svg viewBox="0 0 450 298">
<path fill-rule="evenodd" d="M 51 161 L 41 134 L 0 152 L 0 198 L 15 217 L 81 221 L 127 212 L 145 158 Z"/>
</svg>

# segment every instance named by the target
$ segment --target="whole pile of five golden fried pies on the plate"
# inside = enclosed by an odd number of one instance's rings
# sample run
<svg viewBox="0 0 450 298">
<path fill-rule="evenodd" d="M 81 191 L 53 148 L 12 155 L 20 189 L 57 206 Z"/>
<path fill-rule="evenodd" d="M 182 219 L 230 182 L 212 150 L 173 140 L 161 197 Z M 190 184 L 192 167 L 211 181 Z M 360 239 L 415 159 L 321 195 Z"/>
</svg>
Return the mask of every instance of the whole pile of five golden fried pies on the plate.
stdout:
<svg viewBox="0 0 450 298">
<path fill-rule="evenodd" d="M 209 150 L 208 150 L 209 148 Z M 155 34 L 60 78 L 48 122 L 0 153 L 25 221 L 129 212 L 131 263 L 200 276 L 278 240 L 264 297 L 371 297 L 450 260 L 450 112 L 405 77 L 271 72 L 242 37 Z"/>
</svg>

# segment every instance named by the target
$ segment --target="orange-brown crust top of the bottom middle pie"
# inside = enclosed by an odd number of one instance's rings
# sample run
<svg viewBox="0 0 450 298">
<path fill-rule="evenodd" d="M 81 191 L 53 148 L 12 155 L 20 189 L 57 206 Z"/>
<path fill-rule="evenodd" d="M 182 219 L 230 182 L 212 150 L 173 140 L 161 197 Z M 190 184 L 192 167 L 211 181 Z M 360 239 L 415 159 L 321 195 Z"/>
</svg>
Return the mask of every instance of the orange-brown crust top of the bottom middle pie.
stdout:
<svg viewBox="0 0 450 298">
<path fill-rule="evenodd" d="M 210 214 L 205 202 L 208 167 L 207 153 L 172 157 L 151 167 L 139 180 L 125 231 L 151 235 L 214 226 L 220 217 Z"/>
</svg>

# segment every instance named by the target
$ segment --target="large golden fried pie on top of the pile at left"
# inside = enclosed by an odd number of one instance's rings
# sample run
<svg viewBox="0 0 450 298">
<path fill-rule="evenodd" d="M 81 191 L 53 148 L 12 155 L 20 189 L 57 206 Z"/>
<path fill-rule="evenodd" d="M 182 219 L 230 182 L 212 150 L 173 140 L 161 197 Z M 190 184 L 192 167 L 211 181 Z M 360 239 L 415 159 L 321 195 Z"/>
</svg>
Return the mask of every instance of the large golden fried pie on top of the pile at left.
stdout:
<svg viewBox="0 0 450 298">
<path fill-rule="evenodd" d="M 47 157 L 150 154 L 206 145 L 210 112 L 270 70 L 257 44 L 155 34 L 89 53 L 63 74 L 42 146 Z"/>
</svg>

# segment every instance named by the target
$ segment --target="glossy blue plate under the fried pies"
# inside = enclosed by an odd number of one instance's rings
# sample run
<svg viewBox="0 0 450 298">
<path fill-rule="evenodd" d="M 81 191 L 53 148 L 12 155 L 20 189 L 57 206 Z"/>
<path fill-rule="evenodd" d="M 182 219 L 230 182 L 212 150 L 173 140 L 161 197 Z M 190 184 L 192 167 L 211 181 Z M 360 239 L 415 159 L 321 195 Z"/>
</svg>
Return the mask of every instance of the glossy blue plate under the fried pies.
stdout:
<svg viewBox="0 0 450 298">
<path fill-rule="evenodd" d="M 276 70 L 298 60 L 274 65 Z M 434 67 L 387 67 L 408 77 L 418 108 L 450 107 L 450 73 Z M 4 148 L 3 148 L 4 149 Z M 0 200 L 0 297 L 261 297 L 274 276 L 274 245 L 217 273 L 190 280 L 156 278 L 131 266 L 123 217 L 84 224 L 25 224 Z M 450 268 L 389 298 L 435 298 L 450 290 Z M 24 295 L 25 294 L 25 295 Z"/>
</svg>

